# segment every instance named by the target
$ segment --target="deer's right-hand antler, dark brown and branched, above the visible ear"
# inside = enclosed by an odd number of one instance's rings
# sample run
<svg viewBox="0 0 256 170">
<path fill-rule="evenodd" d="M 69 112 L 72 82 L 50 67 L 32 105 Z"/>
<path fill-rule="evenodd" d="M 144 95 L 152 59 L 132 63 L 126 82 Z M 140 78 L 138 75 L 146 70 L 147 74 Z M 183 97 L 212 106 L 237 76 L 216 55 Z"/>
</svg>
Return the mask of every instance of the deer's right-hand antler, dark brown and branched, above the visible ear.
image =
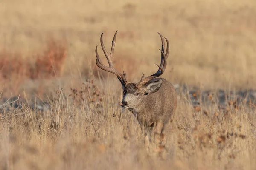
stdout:
<svg viewBox="0 0 256 170">
<path fill-rule="evenodd" d="M 160 34 L 159 32 L 158 32 L 158 34 L 160 35 L 161 42 L 162 42 L 162 49 L 161 50 L 159 49 L 161 52 L 161 63 L 160 63 L 160 65 L 155 64 L 158 67 L 158 71 L 155 74 L 152 74 L 151 76 L 148 76 L 148 77 L 145 77 L 145 75 L 143 74 L 140 82 L 138 82 L 138 84 L 137 84 L 139 86 L 144 85 L 146 82 L 150 81 L 151 79 L 161 76 L 166 69 L 166 65 L 167 65 L 166 60 L 169 55 L 169 41 L 167 40 L 167 38 L 165 38 L 166 42 L 167 42 L 166 54 L 165 54 L 164 53 L 164 48 L 165 48 L 164 38 L 163 38 L 162 34 Z"/>
</svg>

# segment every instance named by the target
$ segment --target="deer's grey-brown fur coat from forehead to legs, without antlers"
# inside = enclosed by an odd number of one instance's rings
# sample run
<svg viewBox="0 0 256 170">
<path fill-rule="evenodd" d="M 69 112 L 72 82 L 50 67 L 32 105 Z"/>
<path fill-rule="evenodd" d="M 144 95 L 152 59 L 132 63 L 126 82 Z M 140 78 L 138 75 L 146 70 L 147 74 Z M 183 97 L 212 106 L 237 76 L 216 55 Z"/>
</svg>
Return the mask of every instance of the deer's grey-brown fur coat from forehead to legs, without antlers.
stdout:
<svg viewBox="0 0 256 170">
<path fill-rule="evenodd" d="M 151 82 L 156 82 L 161 79 L 163 82 L 158 91 L 154 93 L 144 94 L 145 88 Z M 165 144 L 165 127 L 169 124 L 170 120 L 175 114 L 177 108 L 177 93 L 173 85 L 164 78 L 155 78 L 147 82 L 142 87 L 137 87 L 135 83 L 127 83 L 124 87 L 124 98 L 130 95 L 128 102 L 133 102 L 133 106 L 128 108 L 134 116 L 137 117 L 141 130 L 145 135 L 145 143 L 149 149 L 152 132 L 157 135 L 159 139 L 157 144 Z M 139 92 L 136 98 L 134 94 Z"/>
</svg>

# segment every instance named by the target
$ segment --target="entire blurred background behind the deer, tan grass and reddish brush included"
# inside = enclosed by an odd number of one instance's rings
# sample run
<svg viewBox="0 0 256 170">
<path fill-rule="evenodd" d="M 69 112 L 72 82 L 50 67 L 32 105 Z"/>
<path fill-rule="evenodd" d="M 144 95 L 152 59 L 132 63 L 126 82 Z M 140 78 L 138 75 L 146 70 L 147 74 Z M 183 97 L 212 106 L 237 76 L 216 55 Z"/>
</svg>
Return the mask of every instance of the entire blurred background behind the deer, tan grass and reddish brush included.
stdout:
<svg viewBox="0 0 256 170">
<path fill-rule="evenodd" d="M 7 96 L 24 90 L 40 96 L 56 80 L 69 87 L 91 70 L 114 77 L 97 69 L 95 47 L 103 32 L 110 51 L 116 30 L 113 60 L 128 81 L 157 71 L 160 32 L 170 42 L 163 74 L 169 81 L 202 88 L 256 83 L 253 0 L 2 0 L 0 20 L 0 85 Z"/>
</svg>

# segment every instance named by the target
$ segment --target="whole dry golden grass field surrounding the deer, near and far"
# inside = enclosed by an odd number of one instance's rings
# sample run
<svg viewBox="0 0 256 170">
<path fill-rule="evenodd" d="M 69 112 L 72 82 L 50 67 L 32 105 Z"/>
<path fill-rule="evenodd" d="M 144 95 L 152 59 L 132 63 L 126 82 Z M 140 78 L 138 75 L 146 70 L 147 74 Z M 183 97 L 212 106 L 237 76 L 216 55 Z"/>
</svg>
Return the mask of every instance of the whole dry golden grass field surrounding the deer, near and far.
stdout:
<svg viewBox="0 0 256 170">
<path fill-rule="evenodd" d="M 195 106 L 181 90 L 166 150 L 147 154 L 136 120 L 119 106 L 119 81 L 96 68 L 94 52 L 102 32 L 109 50 L 118 30 L 116 68 L 136 82 L 157 70 L 160 32 L 170 42 L 170 82 L 253 89 L 256 1 L 1 0 L 0 20 L 0 100 L 23 101 L 0 105 L 1 169 L 256 169 L 255 101 L 220 106 L 209 94 L 210 104 L 199 97 Z M 50 108 L 28 106 L 39 100 Z"/>
</svg>

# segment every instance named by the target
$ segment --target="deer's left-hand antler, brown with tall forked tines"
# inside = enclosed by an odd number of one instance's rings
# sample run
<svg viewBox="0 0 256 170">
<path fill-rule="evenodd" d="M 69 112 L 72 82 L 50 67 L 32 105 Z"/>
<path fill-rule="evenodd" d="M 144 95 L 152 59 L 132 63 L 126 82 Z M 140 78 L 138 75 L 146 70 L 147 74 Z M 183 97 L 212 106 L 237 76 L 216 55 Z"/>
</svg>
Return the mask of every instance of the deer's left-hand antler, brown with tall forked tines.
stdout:
<svg viewBox="0 0 256 170">
<path fill-rule="evenodd" d="M 101 34 L 100 36 L 100 44 L 102 46 L 102 50 L 108 60 L 108 65 L 109 67 L 107 67 L 106 65 L 102 64 L 101 62 L 101 59 L 99 57 L 99 54 L 98 54 L 98 45 L 96 45 L 96 49 L 95 49 L 95 54 L 96 54 L 96 65 L 101 68 L 102 70 L 104 71 L 108 71 L 110 73 L 113 73 L 115 74 L 118 79 L 122 82 L 123 85 L 125 85 L 127 83 L 126 81 L 126 74 L 125 74 L 125 71 L 123 74 L 119 73 L 119 71 L 117 71 L 114 67 L 113 67 L 113 61 L 112 61 L 112 57 L 113 57 L 113 54 L 114 54 L 114 48 L 115 48 L 115 44 L 116 44 L 116 34 L 117 34 L 117 31 L 114 35 L 114 38 L 113 38 L 113 41 L 112 41 L 112 46 L 111 46 L 111 52 L 110 54 L 108 54 L 108 51 L 106 50 L 105 46 L 104 46 L 104 43 L 103 43 L 103 33 Z"/>
</svg>

